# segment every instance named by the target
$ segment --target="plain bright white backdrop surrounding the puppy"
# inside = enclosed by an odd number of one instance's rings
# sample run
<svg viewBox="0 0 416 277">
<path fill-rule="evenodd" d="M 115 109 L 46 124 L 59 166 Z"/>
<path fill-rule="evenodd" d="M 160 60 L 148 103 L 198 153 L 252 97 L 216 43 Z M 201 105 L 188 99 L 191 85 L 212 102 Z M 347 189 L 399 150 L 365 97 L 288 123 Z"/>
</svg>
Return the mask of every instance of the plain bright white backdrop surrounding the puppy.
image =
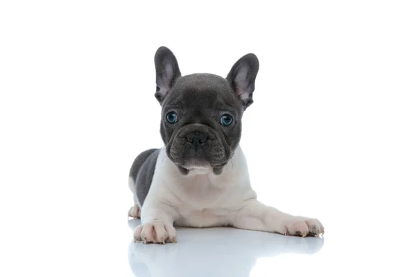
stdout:
<svg viewBox="0 0 416 277">
<path fill-rule="evenodd" d="M 410 275 L 415 14 L 413 1 L 1 1 L 0 275 L 131 275 L 128 170 L 162 146 L 162 45 L 183 75 L 259 57 L 241 141 L 252 186 L 326 228 L 289 274 Z"/>
</svg>

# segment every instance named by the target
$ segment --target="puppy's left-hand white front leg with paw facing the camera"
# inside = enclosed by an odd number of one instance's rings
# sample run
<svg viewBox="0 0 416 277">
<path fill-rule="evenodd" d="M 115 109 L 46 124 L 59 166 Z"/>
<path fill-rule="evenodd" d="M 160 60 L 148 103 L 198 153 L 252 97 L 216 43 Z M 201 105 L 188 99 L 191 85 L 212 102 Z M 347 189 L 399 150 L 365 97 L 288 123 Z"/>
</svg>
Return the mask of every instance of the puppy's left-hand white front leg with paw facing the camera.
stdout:
<svg viewBox="0 0 416 277">
<path fill-rule="evenodd" d="M 141 209 L 141 225 L 134 231 L 135 242 L 146 243 L 176 242 L 176 231 L 173 228 L 175 210 L 161 202 L 144 203 Z"/>
</svg>

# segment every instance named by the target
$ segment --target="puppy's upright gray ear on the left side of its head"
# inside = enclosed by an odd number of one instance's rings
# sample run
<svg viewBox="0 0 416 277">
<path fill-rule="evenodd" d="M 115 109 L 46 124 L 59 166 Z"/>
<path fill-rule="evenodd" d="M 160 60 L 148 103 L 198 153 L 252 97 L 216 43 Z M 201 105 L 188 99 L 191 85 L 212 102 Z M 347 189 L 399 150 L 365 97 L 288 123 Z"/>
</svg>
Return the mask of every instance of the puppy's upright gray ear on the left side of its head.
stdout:
<svg viewBox="0 0 416 277">
<path fill-rule="evenodd" d="M 175 55 L 167 47 L 161 46 L 155 54 L 156 93 L 155 97 L 160 104 L 171 91 L 173 84 L 180 77 L 179 65 Z"/>
</svg>

